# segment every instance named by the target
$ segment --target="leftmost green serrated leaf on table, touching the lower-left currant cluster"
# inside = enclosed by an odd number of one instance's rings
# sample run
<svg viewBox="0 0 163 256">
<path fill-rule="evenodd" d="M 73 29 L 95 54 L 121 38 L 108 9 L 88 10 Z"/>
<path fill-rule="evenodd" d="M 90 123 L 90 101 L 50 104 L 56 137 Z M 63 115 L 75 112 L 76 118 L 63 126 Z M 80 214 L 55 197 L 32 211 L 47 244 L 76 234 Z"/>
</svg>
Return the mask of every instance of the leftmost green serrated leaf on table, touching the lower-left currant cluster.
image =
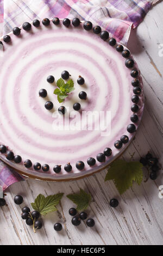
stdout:
<svg viewBox="0 0 163 256">
<path fill-rule="evenodd" d="M 31 203 L 32 208 L 39 211 L 42 215 L 46 215 L 52 211 L 57 211 L 56 205 L 59 204 L 63 195 L 64 193 L 58 193 L 45 197 L 43 194 L 39 194 L 39 196 L 36 197 L 35 202 Z"/>
</svg>

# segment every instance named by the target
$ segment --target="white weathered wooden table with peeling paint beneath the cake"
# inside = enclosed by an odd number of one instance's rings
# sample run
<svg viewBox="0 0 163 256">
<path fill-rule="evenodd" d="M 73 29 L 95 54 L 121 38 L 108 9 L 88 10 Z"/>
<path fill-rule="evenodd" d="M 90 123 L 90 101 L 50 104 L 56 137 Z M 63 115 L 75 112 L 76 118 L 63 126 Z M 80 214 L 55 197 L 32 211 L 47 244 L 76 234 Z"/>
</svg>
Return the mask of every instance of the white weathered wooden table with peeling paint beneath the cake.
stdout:
<svg viewBox="0 0 163 256">
<path fill-rule="evenodd" d="M 159 157 L 160 163 L 163 160 L 162 15 L 163 2 L 149 11 L 137 31 L 131 33 L 128 44 L 142 73 L 146 107 L 135 140 L 124 154 L 126 160 L 134 152 L 134 159 L 139 160 L 148 150 Z M 66 183 L 28 179 L 12 185 L 5 197 L 8 206 L 0 209 L 0 245 L 163 245 L 163 199 L 158 196 L 159 186 L 163 185 L 162 170 L 155 181 L 142 182 L 141 186 L 134 184 L 122 196 L 112 181 L 104 182 L 105 174 L 104 170 L 90 178 Z M 78 192 L 80 187 L 92 194 L 88 209 L 96 222 L 92 229 L 84 223 L 74 227 L 68 214 L 73 204 L 66 194 Z M 22 206 L 30 206 L 39 193 L 46 196 L 58 192 L 65 193 L 59 212 L 43 217 L 44 227 L 34 234 L 21 219 Z M 24 197 L 21 206 L 13 202 L 16 194 Z M 109 206 L 114 197 L 120 202 L 116 209 Z M 61 232 L 53 229 L 55 222 L 63 223 Z"/>
</svg>

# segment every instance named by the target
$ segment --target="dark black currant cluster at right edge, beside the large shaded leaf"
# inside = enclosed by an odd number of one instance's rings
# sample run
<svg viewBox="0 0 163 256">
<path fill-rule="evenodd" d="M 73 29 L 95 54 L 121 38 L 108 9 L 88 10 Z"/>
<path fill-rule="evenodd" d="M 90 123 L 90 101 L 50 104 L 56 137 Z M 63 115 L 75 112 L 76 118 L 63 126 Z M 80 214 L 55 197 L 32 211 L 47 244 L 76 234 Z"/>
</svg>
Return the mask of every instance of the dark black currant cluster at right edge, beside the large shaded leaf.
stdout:
<svg viewBox="0 0 163 256">
<path fill-rule="evenodd" d="M 147 166 L 148 169 L 150 170 L 149 177 L 152 180 L 155 180 L 158 176 L 158 170 L 160 169 L 159 167 L 159 162 L 156 157 L 153 157 L 151 153 L 147 153 L 145 157 L 141 157 L 140 163 L 143 164 L 143 166 Z"/>
</svg>

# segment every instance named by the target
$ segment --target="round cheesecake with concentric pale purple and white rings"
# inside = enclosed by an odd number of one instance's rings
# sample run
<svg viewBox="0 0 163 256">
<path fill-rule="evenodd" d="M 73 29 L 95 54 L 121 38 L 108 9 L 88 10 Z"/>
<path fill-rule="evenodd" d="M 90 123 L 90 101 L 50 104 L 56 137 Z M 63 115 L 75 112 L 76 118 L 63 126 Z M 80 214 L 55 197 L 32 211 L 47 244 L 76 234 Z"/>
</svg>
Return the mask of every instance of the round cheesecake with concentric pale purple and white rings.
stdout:
<svg viewBox="0 0 163 256">
<path fill-rule="evenodd" d="M 0 158 L 27 176 L 66 180 L 95 173 L 123 153 L 140 124 L 143 85 L 133 57 L 84 23 L 40 21 L 39 27 L 21 27 L 20 35 L 0 39 L 0 150 L 5 146 Z M 60 103 L 54 90 L 64 70 L 74 90 Z M 48 76 L 55 81 L 49 83 Z M 40 89 L 47 96 L 39 96 Z M 45 108 L 47 101 L 51 109 Z M 78 111 L 74 103 L 80 104 Z M 19 163 L 9 151 L 21 156 Z"/>
</svg>

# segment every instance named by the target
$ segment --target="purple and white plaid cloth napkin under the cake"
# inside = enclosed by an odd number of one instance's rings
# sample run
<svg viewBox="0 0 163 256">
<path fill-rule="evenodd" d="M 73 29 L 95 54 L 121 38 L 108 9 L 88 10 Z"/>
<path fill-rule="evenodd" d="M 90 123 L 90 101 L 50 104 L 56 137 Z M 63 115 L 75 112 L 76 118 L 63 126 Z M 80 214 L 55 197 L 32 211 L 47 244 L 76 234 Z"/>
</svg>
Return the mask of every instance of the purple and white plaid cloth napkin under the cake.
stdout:
<svg viewBox="0 0 163 256">
<path fill-rule="evenodd" d="M 99 25 L 103 30 L 127 44 L 131 27 L 143 20 L 158 0 L 0 0 L 0 36 L 24 21 L 45 17 L 79 17 Z M 0 160 L 0 186 L 5 190 L 22 177 Z"/>
</svg>

